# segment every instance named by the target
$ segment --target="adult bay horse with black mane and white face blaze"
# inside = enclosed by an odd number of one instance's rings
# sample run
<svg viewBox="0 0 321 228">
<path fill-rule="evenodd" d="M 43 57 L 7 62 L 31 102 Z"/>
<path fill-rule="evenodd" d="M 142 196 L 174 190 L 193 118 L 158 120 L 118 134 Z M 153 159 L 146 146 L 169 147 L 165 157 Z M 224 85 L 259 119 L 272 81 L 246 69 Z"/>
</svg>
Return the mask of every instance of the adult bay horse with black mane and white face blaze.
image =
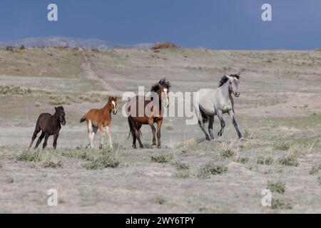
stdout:
<svg viewBox="0 0 321 228">
<path fill-rule="evenodd" d="M 161 125 L 163 123 L 162 105 L 167 108 L 169 105 L 168 91 L 170 82 L 161 79 L 155 86 L 151 87 L 151 96 L 136 96 L 127 103 L 128 125 L 130 133 L 133 136 L 133 148 L 136 148 L 136 139 L 139 146 L 143 148 L 141 142 L 141 126 L 150 125 L 153 133 L 153 145 L 156 146 L 156 128 L 157 125 L 157 147 L 161 147 Z M 129 136 L 128 136 L 129 137 Z"/>
</svg>

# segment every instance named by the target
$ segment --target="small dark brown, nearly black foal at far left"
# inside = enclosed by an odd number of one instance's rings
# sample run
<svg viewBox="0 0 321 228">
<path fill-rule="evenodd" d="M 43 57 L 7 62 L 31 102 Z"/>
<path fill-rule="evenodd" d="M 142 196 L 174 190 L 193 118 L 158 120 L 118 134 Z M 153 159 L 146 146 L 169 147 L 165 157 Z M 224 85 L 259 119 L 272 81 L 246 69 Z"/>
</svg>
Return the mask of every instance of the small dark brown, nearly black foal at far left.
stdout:
<svg viewBox="0 0 321 228">
<path fill-rule="evenodd" d="M 39 146 L 41 140 L 45 138 L 44 144 L 42 148 L 44 149 L 47 146 L 47 140 L 49 136 L 54 135 L 54 148 L 57 146 L 57 139 L 59 136 L 59 131 L 61 129 L 61 124 L 66 125 L 65 120 L 65 111 L 63 110 L 63 106 L 55 107 L 56 112 L 54 115 L 49 113 L 42 113 L 39 115 L 39 118 L 36 123 L 36 128 L 34 130 L 34 135 L 32 135 L 30 146 L 34 143 L 34 140 L 37 137 L 37 134 L 42 130 L 42 133 L 36 143 L 35 149 Z"/>
</svg>

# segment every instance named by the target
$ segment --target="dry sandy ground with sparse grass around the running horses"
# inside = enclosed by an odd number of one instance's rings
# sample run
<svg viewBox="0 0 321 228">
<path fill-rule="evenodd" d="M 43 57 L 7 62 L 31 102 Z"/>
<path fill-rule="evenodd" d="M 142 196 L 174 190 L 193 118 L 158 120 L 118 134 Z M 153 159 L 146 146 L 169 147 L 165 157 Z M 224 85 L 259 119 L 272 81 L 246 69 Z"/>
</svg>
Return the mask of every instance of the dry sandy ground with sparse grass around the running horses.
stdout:
<svg viewBox="0 0 321 228">
<path fill-rule="evenodd" d="M 1 50 L 0 86 L 32 92 L 0 96 L 0 212 L 320 213 L 321 171 L 310 172 L 321 165 L 320 63 L 320 51 Z M 118 167 L 86 170 L 84 160 L 60 155 L 63 167 L 56 168 L 17 160 L 30 143 L 38 115 L 53 113 L 53 103 L 63 103 L 67 113 L 58 152 L 71 148 L 77 153 L 77 147 L 88 144 L 86 125 L 78 120 L 86 110 L 102 107 L 108 94 L 137 93 L 138 86 L 148 90 L 163 77 L 174 92 L 215 88 L 221 76 L 238 72 L 241 95 L 235 113 L 240 130 L 249 135 L 243 140 L 237 139 L 228 116 L 223 138 L 211 142 L 203 141 L 198 125 L 176 117 L 164 120 L 161 149 L 132 150 L 127 120 L 118 110 L 112 128 L 113 142 L 121 145 L 115 149 Z M 219 129 L 217 119 L 214 128 Z M 150 128 L 142 131 L 143 142 L 151 144 Z M 278 146 L 282 142 L 287 146 Z M 233 155 L 225 157 L 226 150 Z M 173 159 L 152 162 L 151 156 L 163 154 Z M 290 155 L 297 166 L 278 162 Z M 260 157 L 273 162 L 262 165 Z M 188 168 L 179 170 L 175 161 Z M 200 177 L 209 161 L 228 171 Z M 285 184 L 284 193 L 272 192 L 278 200 L 274 208 L 261 204 L 269 181 Z M 58 207 L 47 205 L 46 192 L 52 188 L 58 190 Z"/>
</svg>

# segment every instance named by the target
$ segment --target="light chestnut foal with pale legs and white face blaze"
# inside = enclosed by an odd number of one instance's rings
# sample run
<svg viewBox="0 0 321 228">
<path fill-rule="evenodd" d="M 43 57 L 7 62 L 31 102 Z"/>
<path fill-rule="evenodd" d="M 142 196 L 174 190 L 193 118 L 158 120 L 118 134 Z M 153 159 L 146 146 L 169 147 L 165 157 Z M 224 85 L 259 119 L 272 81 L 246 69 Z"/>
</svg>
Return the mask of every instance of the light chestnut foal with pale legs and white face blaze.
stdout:
<svg viewBox="0 0 321 228">
<path fill-rule="evenodd" d="M 113 113 L 113 115 L 117 113 L 117 97 L 113 96 L 108 97 L 108 101 L 103 108 L 93 108 L 81 118 L 80 123 L 86 120 L 91 148 L 93 148 L 93 137 L 96 135 L 98 129 L 101 131 L 101 144 L 99 145 L 99 149 L 103 148 L 103 138 L 105 137 L 103 128 L 105 127 L 109 138 L 109 146 L 111 148 L 113 147 L 113 142 L 111 141 L 111 113 Z"/>
</svg>

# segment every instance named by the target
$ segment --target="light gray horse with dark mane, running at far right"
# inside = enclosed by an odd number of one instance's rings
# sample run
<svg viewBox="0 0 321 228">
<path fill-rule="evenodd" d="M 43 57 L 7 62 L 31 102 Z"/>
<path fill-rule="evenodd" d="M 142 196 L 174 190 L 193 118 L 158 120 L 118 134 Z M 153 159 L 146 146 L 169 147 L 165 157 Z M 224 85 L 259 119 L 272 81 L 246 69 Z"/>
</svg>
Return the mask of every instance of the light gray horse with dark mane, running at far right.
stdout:
<svg viewBox="0 0 321 228">
<path fill-rule="evenodd" d="M 238 123 L 236 123 L 234 117 L 234 102 L 232 93 L 235 97 L 240 96 L 240 91 L 238 90 L 238 84 L 240 81 L 240 75 L 231 74 L 229 76 L 223 76 L 220 80 L 217 89 L 203 88 L 198 90 L 198 95 L 194 96 L 194 110 L 198 118 L 198 124 L 200 129 L 203 130 L 206 140 L 213 140 L 213 123 L 214 115 L 218 116 L 220 120 L 220 131 L 218 136 L 223 135 L 223 130 L 225 127 L 225 122 L 223 120 L 223 114 L 228 113 L 233 122 L 238 137 L 242 138 L 240 130 L 238 130 Z M 205 125 L 208 121 L 208 133 L 206 133 Z"/>
</svg>

